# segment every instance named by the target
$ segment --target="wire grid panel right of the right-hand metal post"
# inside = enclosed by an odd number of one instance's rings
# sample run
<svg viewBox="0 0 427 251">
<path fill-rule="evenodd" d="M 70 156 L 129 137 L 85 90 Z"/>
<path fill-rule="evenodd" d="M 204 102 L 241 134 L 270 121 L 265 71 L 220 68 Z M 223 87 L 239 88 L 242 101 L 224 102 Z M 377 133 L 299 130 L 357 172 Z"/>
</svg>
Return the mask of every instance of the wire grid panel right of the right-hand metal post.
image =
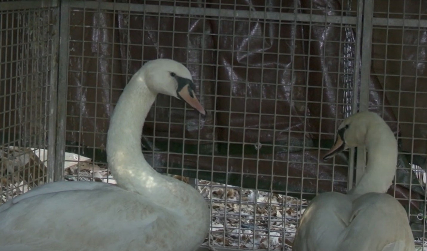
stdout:
<svg viewBox="0 0 427 251">
<path fill-rule="evenodd" d="M 389 193 L 408 211 L 417 250 L 427 250 L 426 9 L 426 1 L 375 0 L 371 83 L 379 83 L 380 88 L 369 88 L 384 99 L 373 104 L 371 96 L 369 108 L 380 111 L 398 138 L 399 166 Z"/>
</svg>

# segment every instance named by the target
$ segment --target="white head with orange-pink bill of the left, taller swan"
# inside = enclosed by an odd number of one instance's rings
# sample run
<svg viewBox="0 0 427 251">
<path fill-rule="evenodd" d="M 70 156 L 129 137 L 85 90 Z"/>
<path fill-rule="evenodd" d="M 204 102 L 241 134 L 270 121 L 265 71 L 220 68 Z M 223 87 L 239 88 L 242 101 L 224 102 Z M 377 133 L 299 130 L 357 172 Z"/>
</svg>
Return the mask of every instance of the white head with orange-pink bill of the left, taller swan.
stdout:
<svg viewBox="0 0 427 251">
<path fill-rule="evenodd" d="M 183 99 L 201 114 L 206 114 L 196 98 L 196 86 L 191 73 L 183 64 L 172 59 L 159 58 L 148 61 L 143 68 L 146 85 L 153 93 Z"/>
</svg>

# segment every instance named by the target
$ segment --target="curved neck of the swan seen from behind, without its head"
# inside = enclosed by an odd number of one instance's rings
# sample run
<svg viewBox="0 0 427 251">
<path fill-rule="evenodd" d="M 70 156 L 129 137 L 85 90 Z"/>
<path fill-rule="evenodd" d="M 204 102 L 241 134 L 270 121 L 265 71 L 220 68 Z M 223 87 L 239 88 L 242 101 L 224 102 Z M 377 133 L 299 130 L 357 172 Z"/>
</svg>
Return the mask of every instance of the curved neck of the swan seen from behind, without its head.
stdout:
<svg viewBox="0 0 427 251">
<path fill-rule="evenodd" d="M 366 135 L 368 163 L 365 174 L 349 194 L 386 193 L 397 167 L 398 144 L 386 123 L 372 126 Z"/>
</svg>

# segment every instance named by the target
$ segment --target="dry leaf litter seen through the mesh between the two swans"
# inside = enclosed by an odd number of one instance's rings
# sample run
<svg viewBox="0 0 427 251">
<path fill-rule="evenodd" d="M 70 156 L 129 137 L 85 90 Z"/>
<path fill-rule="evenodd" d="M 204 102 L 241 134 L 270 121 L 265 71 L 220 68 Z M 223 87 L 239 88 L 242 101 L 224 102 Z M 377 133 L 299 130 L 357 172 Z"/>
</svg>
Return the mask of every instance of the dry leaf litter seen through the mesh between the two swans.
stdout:
<svg viewBox="0 0 427 251">
<path fill-rule="evenodd" d="M 292 246 L 297 219 L 307 201 L 210 181 L 199 181 L 199 185 L 211 201 L 211 246 L 269 250 Z"/>
</svg>

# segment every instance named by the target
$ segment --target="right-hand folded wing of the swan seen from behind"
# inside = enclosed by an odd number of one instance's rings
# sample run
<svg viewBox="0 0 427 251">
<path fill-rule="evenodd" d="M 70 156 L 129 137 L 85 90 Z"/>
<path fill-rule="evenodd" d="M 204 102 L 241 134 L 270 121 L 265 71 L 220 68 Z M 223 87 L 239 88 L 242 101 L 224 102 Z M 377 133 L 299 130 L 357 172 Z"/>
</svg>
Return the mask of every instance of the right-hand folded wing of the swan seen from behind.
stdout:
<svg viewBox="0 0 427 251">
<path fill-rule="evenodd" d="M 367 193 L 357 198 L 350 225 L 341 238 L 338 250 L 415 250 L 406 211 L 388 194 Z"/>
</svg>

